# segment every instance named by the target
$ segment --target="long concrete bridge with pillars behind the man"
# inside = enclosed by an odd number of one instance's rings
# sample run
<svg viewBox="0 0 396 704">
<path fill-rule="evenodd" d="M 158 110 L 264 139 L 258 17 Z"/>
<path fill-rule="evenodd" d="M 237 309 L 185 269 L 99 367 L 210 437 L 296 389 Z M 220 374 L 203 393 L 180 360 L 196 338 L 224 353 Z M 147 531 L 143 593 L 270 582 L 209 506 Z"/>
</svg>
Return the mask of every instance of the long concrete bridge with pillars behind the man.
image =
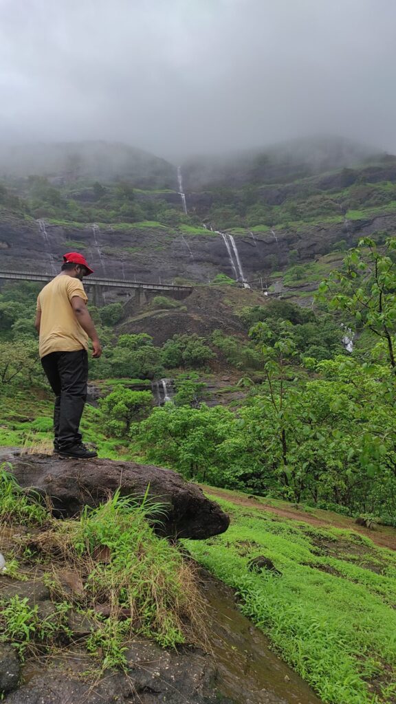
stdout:
<svg viewBox="0 0 396 704">
<path fill-rule="evenodd" d="M 37 281 L 48 283 L 54 279 L 54 275 L 44 272 L 32 271 L 0 271 L 0 279 L 16 280 L 16 281 Z M 135 289 L 135 296 L 139 303 L 144 303 L 147 300 L 146 291 L 161 291 L 162 293 L 171 294 L 174 298 L 185 298 L 192 292 L 192 286 L 175 286 L 173 284 L 153 284 L 144 281 L 131 281 L 130 279 L 97 279 L 96 277 L 87 277 L 84 279 L 84 287 L 93 289 L 94 305 L 100 305 L 103 301 L 103 289 Z"/>
</svg>

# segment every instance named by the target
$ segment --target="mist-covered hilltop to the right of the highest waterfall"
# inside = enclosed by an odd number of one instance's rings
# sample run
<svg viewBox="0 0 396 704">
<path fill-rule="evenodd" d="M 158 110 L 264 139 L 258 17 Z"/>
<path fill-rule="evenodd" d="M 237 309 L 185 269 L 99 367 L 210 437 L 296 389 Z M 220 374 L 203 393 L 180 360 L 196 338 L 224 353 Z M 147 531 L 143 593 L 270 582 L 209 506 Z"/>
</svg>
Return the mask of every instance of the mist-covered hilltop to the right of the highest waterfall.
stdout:
<svg viewBox="0 0 396 704">
<path fill-rule="evenodd" d="M 369 165 L 387 155 L 342 137 L 293 139 L 266 149 L 199 156 L 183 166 L 185 188 L 283 184 L 341 168 Z"/>
</svg>

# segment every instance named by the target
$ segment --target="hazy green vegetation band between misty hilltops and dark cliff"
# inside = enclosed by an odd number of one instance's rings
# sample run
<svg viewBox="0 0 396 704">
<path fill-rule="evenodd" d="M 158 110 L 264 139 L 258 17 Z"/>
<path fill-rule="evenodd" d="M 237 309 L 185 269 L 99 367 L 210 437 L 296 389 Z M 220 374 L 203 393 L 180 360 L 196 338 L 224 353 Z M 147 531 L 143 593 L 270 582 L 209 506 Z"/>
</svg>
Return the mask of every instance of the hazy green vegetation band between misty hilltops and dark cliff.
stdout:
<svg viewBox="0 0 396 704">
<path fill-rule="evenodd" d="M 115 227 L 128 223 L 165 226 L 185 234 L 210 234 L 202 222 L 234 234 L 266 232 L 272 227 L 300 230 L 315 222 L 341 224 L 395 212 L 396 184 L 377 181 L 376 174 L 370 182 L 370 177 L 359 169 L 345 169 L 335 179 L 339 184 L 349 184 L 345 187 L 315 177 L 297 178 L 292 184 L 264 184 L 257 179 L 240 187 L 209 184 L 204 203 L 194 205 L 185 215 L 177 191 L 170 189 L 169 183 L 162 189 L 142 189 L 137 182 L 122 177 L 99 182 L 77 172 L 70 181 L 30 175 L 10 177 L 0 184 L 0 213 L 47 218 L 59 224 L 73 222 L 76 226 L 86 222 Z M 341 247 L 347 244 L 345 239 L 341 241 Z"/>
</svg>

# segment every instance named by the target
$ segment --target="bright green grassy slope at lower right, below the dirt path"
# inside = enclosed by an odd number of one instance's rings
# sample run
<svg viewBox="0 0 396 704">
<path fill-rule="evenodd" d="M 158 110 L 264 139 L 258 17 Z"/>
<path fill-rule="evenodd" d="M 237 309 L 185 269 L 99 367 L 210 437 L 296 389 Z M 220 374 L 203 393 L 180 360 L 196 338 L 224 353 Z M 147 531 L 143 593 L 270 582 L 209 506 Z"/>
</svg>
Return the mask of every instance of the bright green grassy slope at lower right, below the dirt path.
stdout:
<svg viewBox="0 0 396 704">
<path fill-rule="evenodd" d="M 245 615 L 323 702 L 393 703 L 395 554 L 340 529 L 218 503 L 231 526 L 214 539 L 186 541 L 193 557 L 237 590 Z M 247 570 L 261 554 L 282 577 Z"/>
</svg>

